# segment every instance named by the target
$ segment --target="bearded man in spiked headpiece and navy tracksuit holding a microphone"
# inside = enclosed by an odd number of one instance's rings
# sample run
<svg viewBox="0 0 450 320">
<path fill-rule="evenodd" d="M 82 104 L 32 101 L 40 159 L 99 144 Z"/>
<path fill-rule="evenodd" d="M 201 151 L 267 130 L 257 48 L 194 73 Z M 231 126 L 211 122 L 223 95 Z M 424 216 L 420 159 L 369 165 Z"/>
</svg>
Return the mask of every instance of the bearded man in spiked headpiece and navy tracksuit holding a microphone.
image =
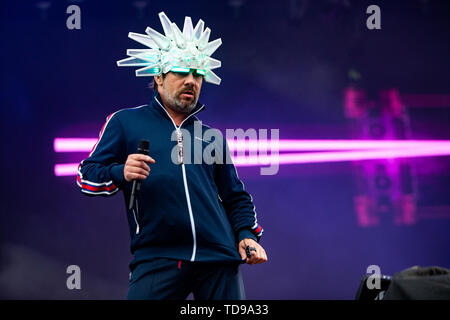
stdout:
<svg viewBox="0 0 450 320">
<path fill-rule="evenodd" d="M 191 292 L 195 299 L 245 299 L 240 264 L 267 261 L 252 198 L 227 161 L 223 136 L 217 161 L 191 164 L 186 157 L 196 139 L 202 150 L 213 143 L 194 129 L 209 129 L 196 116 L 205 108 L 198 97 L 203 80 L 220 83 L 211 71 L 220 61 L 210 57 L 220 39 L 208 43 L 202 20 L 194 29 L 186 17 L 181 33 L 159 16 L 165 36 L 151 28 L 150 37 L 130 33 L 152 49 L 128 50 L 130 58 L 118 62 L 154 76 L 152 100 L 107 118 L 77 183 L 87 195 L 124 192 L 134 255 L 128 299 L 185 299 Z M 150 156 L 136 153 L 142 139 Z M 134 180 L 141 188 L 130 204 Z"/>
</svg>

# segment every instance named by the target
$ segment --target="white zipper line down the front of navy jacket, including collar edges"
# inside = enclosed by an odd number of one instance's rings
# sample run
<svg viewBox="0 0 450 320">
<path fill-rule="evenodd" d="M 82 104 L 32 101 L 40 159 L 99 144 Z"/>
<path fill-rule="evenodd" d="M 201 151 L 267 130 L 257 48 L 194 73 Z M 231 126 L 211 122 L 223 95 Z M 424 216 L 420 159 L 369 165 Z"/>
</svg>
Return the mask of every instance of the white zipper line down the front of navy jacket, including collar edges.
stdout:
<svg viewBox="0 0 450 320">
<path fill-rule="evenodd" d="M 200 112 L 205 105 L 202 105 L 196 112 L 190 114 L 186 119 L 184 119 L 181 123 L 180 126 L 177 127 L 177 125 L 175 124 L 175 122 L 173 121 L 172 117 L 169 115 L 169 113 L 167 112 L 166 108 L 163 107 L 163 105 L 159 102 L 158 99 L 156 99 L 156 102 L 158 102 L 158 104 L 160 105 L 160 107 L 164 110 L 164 112 L 167 114 L 167 116 L 169 117 L 169 119 L 172 121 L 172 124 L 177 132 L 177 144 L 178 144 L 178 162 L 181 163 L 181 170 L 183 172 L 183 183 L 184 183 L 184 192 L 186 194 L 186 202 L 187 202 L 187 206 L 188 206 L 188 211 L 189 211 L 189 219 L 191 221 L 191 229 L 192 229 L 192 238 L 194 240 L 194 245 L 192 248 L 192 256 L 191 256 L 191 260 L 190 261 L 195 261 L 195 255 L 197 253 L 197 235 L 196 235 L 196 231 L 195 231 L 195 222 L 194 222 L 194 215 L 192 213 L 192 207 L 191 207 L 191 198 L 189 196 L 189 188 L 187 185 L 187 179 L 186 179 L 186 168 L 184 166 L 184 161 L 183 161 L 183 135 L 181 133 L 180 128 L 182 127 L 183 123 L 189 119 L 191 116 L 197 114 L 198 112 Z M 181 141 L 181 145 L 180 145 L 180 141 Z M 181 147 L 181 149 L 180 149 Z M 180 158 L 181 157 L 181 158 Z M 181 161 L 180 161 L 181 160 Z"/>
</svg>

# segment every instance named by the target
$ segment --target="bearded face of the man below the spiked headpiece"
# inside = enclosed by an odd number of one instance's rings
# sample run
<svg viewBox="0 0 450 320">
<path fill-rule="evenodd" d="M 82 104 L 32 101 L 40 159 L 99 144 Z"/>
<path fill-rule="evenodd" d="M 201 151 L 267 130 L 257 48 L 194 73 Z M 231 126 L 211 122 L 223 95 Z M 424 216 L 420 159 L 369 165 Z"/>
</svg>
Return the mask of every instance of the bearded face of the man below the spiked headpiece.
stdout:
<svg viewBox="0 0 450 320">
<path fill-rule="evenodd" d="M 155 78 L 164 104 L 175 112 L 188 114 L 197 104 L 203 76 L 191 69 L 189 73 L 168 72 Z"/>
</svg>

